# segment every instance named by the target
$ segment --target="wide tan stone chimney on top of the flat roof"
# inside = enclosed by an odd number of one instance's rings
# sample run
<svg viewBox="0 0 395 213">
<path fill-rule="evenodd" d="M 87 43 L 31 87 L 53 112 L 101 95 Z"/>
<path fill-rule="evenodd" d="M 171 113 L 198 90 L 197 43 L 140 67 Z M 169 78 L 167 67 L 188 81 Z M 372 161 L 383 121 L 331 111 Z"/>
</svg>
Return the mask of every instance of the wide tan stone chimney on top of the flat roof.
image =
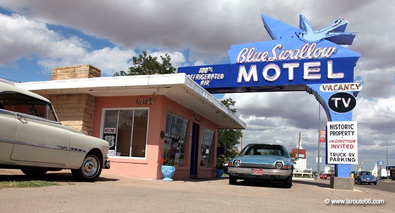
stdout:
<svg viewBox="0 0 395 213">
<path fill-rule="evenodd" d="M 100 77 L 101 72 L 101 70 L 90 64 L 70 67 L 54 67 L 52 68 L 51 81 L 96 78 Z"/>
</svg>

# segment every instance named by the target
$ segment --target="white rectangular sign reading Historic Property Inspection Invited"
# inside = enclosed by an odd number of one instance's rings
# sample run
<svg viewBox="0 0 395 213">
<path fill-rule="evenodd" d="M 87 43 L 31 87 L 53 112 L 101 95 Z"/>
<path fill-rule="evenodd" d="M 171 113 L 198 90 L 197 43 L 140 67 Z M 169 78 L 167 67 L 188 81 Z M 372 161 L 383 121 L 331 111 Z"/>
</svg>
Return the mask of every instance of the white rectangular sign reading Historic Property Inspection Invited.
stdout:
<svg viewBox="0 0 395 213">
<path fill-rule="evenodd" d="M 327 164 L 358 164 L 356 121 L 327 123 Z"/>
</svg>

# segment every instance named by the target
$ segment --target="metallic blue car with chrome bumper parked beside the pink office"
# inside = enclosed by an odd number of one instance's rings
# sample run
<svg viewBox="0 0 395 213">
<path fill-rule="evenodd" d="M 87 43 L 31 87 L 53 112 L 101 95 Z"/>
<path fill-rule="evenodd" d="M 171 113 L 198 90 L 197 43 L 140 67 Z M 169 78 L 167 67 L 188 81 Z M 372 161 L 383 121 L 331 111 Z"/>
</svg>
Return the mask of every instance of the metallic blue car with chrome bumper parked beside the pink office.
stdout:
<svg viewBox="0 0 395 213">
<path fill-rule="evenodd" d="M 292 159 L 285 147 L 277 144 L 248 144 L 228 163 L 229 184 L 244 181 L 280 181 L 292 186 Z"/>
</svg>

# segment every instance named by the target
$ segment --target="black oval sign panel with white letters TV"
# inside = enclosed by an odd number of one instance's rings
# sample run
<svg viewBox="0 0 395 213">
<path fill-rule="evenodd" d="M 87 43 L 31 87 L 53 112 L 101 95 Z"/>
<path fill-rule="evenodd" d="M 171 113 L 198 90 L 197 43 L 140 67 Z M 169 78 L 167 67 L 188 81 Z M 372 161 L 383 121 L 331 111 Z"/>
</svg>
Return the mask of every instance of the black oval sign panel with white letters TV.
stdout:
<svg viewBox="0 0 395 213">
<path fill-rule="evenodd" d="M 354 95 L 348 92 L 337 92 L 328 99 L 329 108 L 337 113 L 348 113 L 356 106 Z"/>
</svg>

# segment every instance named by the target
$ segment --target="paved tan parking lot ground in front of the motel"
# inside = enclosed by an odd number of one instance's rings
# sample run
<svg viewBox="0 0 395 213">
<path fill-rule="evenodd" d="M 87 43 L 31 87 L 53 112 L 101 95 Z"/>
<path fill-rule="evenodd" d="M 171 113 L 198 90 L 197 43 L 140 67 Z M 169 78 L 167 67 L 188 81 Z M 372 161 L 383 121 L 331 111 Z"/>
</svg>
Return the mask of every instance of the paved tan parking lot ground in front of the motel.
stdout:
<svg viewBox="0 0 395 213">
<path fill-rule="evenodd" d="M 29 179 L 18 170 L 1 172 L 0 180 Z M 0 212 L 394 212 L 395 193 L 355 186 L 329 188 L 325 180 L 280 183 L 238 182 L 227 178 L 173 182 L 102 173 L 94 183 L 75 182 L 68 170 L 50 172 L 60 186 L 0 189 Z M 384 200 L 385 204 L 325 204 L 330 200 Z"/>
</svg>

